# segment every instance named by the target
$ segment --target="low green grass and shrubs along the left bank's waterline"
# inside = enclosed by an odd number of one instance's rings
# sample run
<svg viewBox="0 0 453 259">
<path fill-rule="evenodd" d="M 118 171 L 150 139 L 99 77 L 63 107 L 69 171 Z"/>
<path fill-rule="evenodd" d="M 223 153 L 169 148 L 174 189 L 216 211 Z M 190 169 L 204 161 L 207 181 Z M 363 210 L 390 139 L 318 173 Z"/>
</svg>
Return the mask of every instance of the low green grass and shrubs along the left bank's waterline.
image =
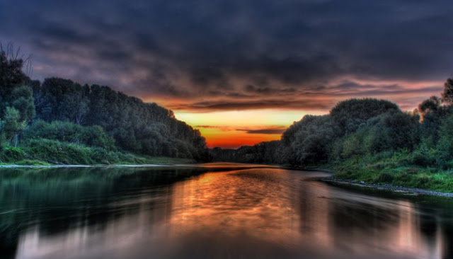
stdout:
<svg viewBox="0 0 453 259">
<path fill-rule="evenodd" d="M 19 147 L 4 146 L 1 165 L 143 164 L 193 163 L 192 159 L 143 156 L 101 147 L 84 146 L 50 139 L 33 139 Z"/>
</svg>

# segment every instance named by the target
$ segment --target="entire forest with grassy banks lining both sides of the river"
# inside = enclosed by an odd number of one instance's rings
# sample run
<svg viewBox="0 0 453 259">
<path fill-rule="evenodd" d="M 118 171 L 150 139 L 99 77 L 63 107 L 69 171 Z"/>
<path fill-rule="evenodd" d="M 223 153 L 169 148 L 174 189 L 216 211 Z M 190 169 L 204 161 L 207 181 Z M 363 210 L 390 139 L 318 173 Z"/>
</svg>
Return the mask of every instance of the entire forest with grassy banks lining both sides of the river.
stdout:
<svg viewBox="0 0 453 259">
<path fill-rule="evenodd" d="M 3 164 L 267 163 L 453 191 L 453 79 L 412 112 L 389 100 L 354 98 L 326 115 L 304 116 L 279 141 L 207 149 L 200 132 L 171 110 L 108 86 L 33 81 L 25 62 L 10 46 L 0 51 Z"/>
</svg>

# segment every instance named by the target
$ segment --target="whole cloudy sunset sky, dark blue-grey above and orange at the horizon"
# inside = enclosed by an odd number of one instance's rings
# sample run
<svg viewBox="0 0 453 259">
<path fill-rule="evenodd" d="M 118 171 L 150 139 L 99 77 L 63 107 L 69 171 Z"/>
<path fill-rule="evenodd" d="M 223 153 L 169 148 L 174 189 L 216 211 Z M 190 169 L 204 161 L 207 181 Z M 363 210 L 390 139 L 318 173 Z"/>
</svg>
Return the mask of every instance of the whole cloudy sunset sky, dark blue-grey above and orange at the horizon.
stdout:
<svg viewBox="0 0 453 259">
<path fill-rule="evenodd" d="M 33 79 L 155 102 L 210 147 L 280 139 L 340 100 L 413 110 L 453 76 L 451 0 L 0 0 Z"/>
</svg>

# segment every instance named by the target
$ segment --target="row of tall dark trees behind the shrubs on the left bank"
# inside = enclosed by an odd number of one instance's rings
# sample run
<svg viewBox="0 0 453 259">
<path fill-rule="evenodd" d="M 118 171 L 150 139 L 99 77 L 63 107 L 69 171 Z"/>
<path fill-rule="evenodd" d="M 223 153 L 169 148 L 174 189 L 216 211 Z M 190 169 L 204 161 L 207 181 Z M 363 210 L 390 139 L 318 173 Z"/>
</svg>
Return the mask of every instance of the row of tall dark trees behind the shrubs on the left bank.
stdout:
<svg viewBox="0 0 453 259">
<path fill-rule="evenodd" d="M 107 86 L 81 86 L 67 79 L 45 79 L 33 87 L 36 117 L 52 122 L 99 125 L 120 149 L 150 156 L 205 159 L 205 139 L 171 110 L 143 103 Z"/>
</svg>

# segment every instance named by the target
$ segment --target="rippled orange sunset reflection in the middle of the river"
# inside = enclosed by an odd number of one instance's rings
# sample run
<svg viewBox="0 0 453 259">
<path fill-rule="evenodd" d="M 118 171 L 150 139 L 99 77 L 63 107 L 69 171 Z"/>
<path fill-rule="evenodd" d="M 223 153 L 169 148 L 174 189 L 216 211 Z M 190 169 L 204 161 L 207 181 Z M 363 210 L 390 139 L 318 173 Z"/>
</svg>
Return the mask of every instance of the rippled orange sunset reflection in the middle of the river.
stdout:
<svg viewBox="0 0 453 259">
<path fill-rule="evenodd" d="M 268 178 L 265 185 L 258 180 L 261 177 Z M 251 169 L 206 173 L 178 183 L 173 188 L 171 232 L 193 234 L 202 229 L 272 242 L 297 241 L 297 207 L 289 198 L 292 190 L 281 185 L 289 182 L 284 170 Z"/>
</svg>

